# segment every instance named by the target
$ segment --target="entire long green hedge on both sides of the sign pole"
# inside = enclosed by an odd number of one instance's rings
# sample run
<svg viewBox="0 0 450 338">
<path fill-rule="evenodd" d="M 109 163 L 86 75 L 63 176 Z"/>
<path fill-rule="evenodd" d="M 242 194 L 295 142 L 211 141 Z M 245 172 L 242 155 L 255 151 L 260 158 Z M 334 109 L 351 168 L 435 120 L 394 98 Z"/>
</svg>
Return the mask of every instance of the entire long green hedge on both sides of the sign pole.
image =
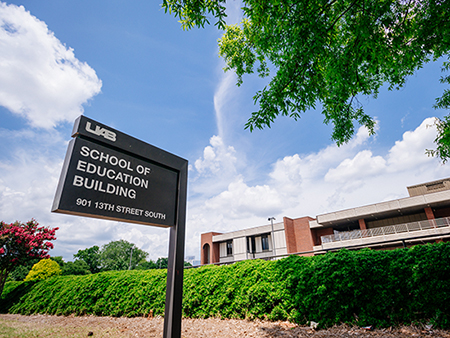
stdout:
<svg viewBox="0 0 450 338">
<path fill-rule="evenodd" d="M 185 270 L 183 315 L 450 328 L 450 243 L 249 260 Z M 166 270 L 59 276 L 5 285 L 0 311 L 164 314 Z"/>
</svg>

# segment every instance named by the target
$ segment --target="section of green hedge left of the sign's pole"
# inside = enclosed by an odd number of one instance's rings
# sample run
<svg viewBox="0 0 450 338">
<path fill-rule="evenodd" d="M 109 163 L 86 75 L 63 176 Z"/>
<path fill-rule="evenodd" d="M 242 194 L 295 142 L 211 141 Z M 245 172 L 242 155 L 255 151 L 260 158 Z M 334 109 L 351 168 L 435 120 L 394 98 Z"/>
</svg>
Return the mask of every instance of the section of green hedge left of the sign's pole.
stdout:
<svg viewBox="0 0 450 338">
<path fill-rule="evenodd" d="M 7 283 L 1 312 L 55 315 L 127 316 L 164 313 L 165 270 L 107 271 Z M 19 288 L 27 288 L 21 290 Z"/>
</svg>

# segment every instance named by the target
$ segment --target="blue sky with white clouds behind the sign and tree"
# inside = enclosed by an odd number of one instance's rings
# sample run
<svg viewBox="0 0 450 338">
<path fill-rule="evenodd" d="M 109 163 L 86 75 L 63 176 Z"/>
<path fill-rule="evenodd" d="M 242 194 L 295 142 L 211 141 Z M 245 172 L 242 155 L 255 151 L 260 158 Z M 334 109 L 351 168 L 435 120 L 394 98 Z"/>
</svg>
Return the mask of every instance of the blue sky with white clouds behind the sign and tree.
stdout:
<svg viewBox="0 0 450 338">
<path fill-rule="evenodd" d="M 23 7 L 20 7 L 23 6 Z M 230 20 L 239 16 L 231 2 Z M 244 130 L 267 83 L 236 87 L 213 27 L 183 31 L 158 1 L 0 2 L 0 215 L 55 227 L 52 255 L 125 239 L 156 259 L 166 229 L 50 212 L 73 121 L 80 114 L 190 163 L 186 255 L 200 234 L 312 216 L 407 196 L 406 186 L 450 176 L 425 155 L 442 60 L 400 91 L 362 98 L 376 136 L 360 129 L 338 148 L 319 112 Z"/>
</svg>

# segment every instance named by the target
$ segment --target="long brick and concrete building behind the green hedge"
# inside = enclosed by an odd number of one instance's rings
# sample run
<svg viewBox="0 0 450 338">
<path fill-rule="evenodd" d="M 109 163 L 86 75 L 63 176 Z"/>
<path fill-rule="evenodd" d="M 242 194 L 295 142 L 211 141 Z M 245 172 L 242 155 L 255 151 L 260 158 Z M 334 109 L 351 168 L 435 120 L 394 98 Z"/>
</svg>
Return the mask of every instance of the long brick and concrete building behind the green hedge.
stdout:
<svg viewBox="0 0 450 338">
<path fill-rule="evenodd" d="M 450 239 L 450 178 L 408 187 L 409 197 L 229 233 L 201 235 L 201 264 L 340 248 L 392 249 Z M 272 240 L 273 238 L 273 240 Z"/>
</svg>

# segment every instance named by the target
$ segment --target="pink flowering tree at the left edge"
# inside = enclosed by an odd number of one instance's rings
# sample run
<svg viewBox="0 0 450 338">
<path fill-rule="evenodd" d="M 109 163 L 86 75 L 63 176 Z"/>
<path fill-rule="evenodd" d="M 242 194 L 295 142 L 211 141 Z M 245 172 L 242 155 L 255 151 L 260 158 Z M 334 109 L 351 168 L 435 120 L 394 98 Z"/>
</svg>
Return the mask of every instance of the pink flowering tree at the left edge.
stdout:
<svg viewBox="0 0 450 338">
<path fill-rule="evenodd" d="M 15 266 L 33 258 L 50 257 L 48 251 L 53 249 L 53 244 L 49 241 L 56 239 L 56 230 L 40 227 L 34 219 L 27 223 L 0 222 L 0 295 L 6 277 Z"/>
</svg>

